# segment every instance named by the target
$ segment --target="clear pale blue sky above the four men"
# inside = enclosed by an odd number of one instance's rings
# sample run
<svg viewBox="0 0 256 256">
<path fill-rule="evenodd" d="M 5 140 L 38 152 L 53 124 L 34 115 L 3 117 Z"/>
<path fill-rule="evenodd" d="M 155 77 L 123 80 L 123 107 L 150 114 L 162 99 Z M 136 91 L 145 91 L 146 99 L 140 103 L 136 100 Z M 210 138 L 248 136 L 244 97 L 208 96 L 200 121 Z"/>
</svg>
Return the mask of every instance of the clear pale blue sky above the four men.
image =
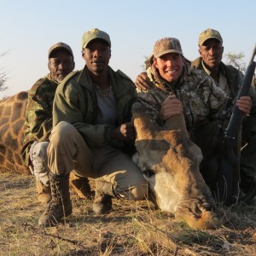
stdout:
<svg viewBox="0 0 256 256">
<path fill-rule="evenodd" d="M 0 71 L 8 78 L 0 98 L 29 90 L 44 77 L 49 47 L 57 42 L 71 46 L 75 70 L 82 69 L 81 38 L 92 28 L 108 32 L 109 66 L 133 81 L 160 38 L 178 38 L 191 61 L 208 27 L 221 33 L 224 54 L 242 53 L 245 62 L 256 42 L 254 0 L 0 0 L 0 9 L 0 55 L 7 53 L 0 57 Z"/>
</svg>

